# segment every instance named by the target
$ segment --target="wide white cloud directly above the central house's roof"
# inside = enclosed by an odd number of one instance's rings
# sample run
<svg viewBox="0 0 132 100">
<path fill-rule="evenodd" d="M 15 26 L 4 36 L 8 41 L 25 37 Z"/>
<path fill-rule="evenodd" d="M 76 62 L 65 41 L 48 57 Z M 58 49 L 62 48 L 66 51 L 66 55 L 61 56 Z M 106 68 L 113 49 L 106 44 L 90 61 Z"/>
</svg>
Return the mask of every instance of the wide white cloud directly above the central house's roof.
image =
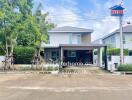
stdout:
<svg viewBox="0 0 132 100">
<path fill-rule="evenodd" d="M 64 7 L 48 7 L 46 8 L 50 12 L 49 18 L 57 26 L 78 26 L 79 16 L 72 9 Z M 45 12 L 45 11 L 43 11 Z"/>
</svg>

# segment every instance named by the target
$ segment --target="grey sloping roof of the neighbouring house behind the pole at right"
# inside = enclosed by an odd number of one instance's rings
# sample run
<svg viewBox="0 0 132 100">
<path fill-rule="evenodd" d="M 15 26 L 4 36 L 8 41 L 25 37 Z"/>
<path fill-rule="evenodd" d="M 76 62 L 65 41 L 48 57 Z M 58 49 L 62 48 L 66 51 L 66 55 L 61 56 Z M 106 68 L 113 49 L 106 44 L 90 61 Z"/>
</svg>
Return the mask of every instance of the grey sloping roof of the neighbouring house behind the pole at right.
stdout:
<svg viewBox="0 0 132 100">
<path fill-rule="evenodd" d="M 120 33 L 120 29 L 116 29 L 115 31 L 113 31 L 112 33 L 104 36 L 102 39 L 105 39 L 111 35 L 114 35 L 116 33 Z M 132 33 L 132 24 L 131 25 L 126 25 L 123 27 L 123 33 Z"/>
</svg>

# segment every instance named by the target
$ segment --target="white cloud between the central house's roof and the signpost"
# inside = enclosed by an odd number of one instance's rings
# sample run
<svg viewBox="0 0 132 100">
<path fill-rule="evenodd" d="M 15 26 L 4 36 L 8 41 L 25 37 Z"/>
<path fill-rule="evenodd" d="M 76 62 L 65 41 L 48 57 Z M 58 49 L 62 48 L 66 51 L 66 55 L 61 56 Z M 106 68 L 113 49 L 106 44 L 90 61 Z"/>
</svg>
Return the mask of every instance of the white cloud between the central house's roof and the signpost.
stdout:
<svg viewBox="0 0 132 100">
<path fill-rule="evenodd" d="M 92 40 L 101 38 L 115 29 L 117 29 L 119 26 L 119 21 L 116 18 L 113 18 L 111 16 L 105 17 L 101 21 L 97 21 L 94 23 L 93 28 L 94 28 L 94 33 L 92 34 Z"/>
</svg>

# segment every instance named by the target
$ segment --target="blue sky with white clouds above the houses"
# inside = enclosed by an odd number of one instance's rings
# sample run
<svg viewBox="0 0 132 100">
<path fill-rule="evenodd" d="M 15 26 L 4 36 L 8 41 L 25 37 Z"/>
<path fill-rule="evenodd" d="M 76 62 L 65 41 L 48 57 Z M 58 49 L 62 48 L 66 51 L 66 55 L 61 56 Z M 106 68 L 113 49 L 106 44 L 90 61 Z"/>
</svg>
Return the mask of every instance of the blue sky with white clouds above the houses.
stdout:
<svg viewBox="0 0 132 100">
<path fill-rule="evenodd" d="M 93 29 L 92 41 L 119 27 L 119 19 L 110 16 L 110 7 L 122 0 L 34 0 L 35 7 L 42 3 L 42 12 L 49 12 L 49 21 L 57 27 L 73 26 Z M 132 22 L 132 0 L 124 0 L 123 25 Z"/>
</svg>

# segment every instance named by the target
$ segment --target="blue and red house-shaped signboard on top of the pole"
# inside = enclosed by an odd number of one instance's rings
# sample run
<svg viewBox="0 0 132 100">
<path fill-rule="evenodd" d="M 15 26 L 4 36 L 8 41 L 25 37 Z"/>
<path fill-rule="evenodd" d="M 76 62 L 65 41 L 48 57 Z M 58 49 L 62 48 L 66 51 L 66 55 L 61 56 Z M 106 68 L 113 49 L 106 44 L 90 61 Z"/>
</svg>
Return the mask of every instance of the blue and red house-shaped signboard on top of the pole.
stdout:
<svg viewBox="0 0 132 100">
<path fill-rule="evenodd" d="M 124 15 L 124 8 L 121 5 L 116 5 L 110 8 L 111 9 L 111 16 L 123 16 Z"/>
</svg>

